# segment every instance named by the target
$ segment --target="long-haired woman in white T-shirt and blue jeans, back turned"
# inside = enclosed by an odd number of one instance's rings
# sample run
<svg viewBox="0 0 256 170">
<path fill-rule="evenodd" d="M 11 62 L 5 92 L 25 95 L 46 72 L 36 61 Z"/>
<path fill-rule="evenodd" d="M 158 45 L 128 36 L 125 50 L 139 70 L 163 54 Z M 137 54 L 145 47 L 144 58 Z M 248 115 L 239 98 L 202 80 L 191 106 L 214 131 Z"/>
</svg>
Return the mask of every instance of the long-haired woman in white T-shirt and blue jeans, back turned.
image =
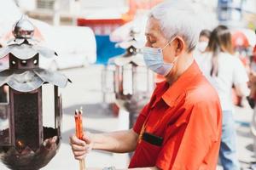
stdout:
<svg viewBox="0 0 256 170">
<path fill-rule="evenodd" d="M 224 170 L 239 170 L 231 88 L 234 84 L 236 94 L 247 96 L 248 77 L 241 60 L 233 55 L 231 34 L 226 26 L 218 26 L 212 31 L 207 50 L 202 57 L 199 63 L 201 71 L 217 90 L 223 112 L 220 161 Z"/>
</svg>

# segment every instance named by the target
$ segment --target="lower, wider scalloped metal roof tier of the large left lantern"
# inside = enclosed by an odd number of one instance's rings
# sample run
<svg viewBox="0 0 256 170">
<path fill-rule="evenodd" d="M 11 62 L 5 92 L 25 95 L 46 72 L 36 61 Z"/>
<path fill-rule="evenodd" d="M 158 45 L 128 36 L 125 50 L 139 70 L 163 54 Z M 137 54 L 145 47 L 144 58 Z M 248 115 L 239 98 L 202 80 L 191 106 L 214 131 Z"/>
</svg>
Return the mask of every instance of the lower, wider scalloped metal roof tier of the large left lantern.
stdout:
<svg viewBox="0 0 256 170">
<path fill-rule="evenodd" d="M 19 92 L 30 92 L 49 82 L 60 88 L 65 88 L 67 77 L 58 72 L 46 71 L 38 68 L 34 70 L 5 70 L 0 72 L 0 86 L 8 84 L 10 88 Z"/>
</svg>

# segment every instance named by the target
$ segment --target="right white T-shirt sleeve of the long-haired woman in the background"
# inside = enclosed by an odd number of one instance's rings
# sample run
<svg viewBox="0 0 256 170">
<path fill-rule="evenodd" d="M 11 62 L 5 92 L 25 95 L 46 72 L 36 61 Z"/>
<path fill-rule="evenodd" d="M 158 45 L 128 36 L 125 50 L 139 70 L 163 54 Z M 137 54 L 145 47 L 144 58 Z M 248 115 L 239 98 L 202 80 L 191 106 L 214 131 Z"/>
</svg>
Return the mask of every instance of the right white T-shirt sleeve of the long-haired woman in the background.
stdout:
<svg viewBox="0 0 256 170">
<path fill-rule="evenodd" d="M 235 85 L 248 82 L 247 71 L 241 60 L 234 58 L 233 82 Z"/>
</svg>

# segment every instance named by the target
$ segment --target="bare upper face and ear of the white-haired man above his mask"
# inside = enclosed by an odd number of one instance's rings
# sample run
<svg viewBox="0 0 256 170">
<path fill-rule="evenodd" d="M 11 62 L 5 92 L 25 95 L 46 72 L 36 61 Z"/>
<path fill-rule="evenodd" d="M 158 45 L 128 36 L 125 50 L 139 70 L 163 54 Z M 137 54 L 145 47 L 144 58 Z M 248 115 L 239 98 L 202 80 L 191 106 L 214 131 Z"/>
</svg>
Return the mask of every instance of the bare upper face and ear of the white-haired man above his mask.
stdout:
<svg viewBox="0 0 256 170">
<path fill-rule="evenodd" d="M 160 31 L 160 23 L 154 18 L 149 18 L 146 26 L 145 36 L 147 37 L 146 47 L 149 48 L 164 48 L 170 40 L 167 40 Z M 164 61 L 172 63 L 174 59 L 175 48 L 173 42 L 163 49 Z"/>
</svg>

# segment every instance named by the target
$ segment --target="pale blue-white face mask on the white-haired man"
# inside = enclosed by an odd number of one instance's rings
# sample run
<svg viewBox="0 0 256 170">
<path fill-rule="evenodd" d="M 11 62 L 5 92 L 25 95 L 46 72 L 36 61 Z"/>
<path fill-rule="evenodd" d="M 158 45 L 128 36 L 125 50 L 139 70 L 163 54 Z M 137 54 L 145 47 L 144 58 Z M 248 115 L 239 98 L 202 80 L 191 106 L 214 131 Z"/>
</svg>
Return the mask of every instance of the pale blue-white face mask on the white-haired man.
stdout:
<svg viewBox="0 0 256 170">
<path fill-rule="evenodd" d="M 175 37 L 172 39 L 172 41 Z M 164 48 L 167 47 L 172 41 L 168 42 Z M 166 75 L 172 70 L 174 62 L 177 57 L 172 61 L 172 63 L 164 62 L 163 49 L 164 48 L 143 48 L 143 58 L 148 66 L 148 68 L 161 76 L 166 77 Z"/>
</svg>

